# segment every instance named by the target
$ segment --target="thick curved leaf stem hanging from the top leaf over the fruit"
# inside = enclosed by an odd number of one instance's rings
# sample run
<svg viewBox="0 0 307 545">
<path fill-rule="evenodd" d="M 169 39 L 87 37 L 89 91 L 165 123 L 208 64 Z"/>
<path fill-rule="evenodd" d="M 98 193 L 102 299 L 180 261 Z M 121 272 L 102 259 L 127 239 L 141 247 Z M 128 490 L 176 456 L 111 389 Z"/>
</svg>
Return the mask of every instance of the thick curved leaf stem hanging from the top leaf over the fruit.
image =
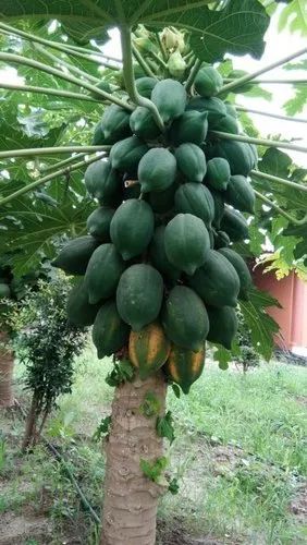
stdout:
<svg viewBox="0 0 307 545">
<path fill-rule="evenodd" d="M 140 96 L 136 90 L 134 81 L 133 61 L 132 61 L 132 43 L 131 43 L 130 28 L 125 24 L 122 24 L 120 31 L 121 31 L 121 44 L 122 44 L 123 65 L 124 65 L 123 70 L 124 70 L 126 90 L 131 99 L 136 105 L 144 106 L 145 108 L 148 108 L 149 111 L 151 111 L 157 125 L 159 126 L 161 132 L 164 132 L 165 131 L 164 123 L 156 105 L 148 98 Z"/>
</svg>

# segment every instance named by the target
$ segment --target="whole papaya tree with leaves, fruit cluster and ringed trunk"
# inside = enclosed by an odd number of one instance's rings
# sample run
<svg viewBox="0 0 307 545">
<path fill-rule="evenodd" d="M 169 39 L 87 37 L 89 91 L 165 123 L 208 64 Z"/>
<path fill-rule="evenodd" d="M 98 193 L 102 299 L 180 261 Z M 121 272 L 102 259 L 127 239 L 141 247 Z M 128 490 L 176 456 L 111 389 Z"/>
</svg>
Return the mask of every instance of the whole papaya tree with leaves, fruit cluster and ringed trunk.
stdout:
<svg viewBox="0 0 307 545">
<path fill-rule="evenodd" d="M 114 362 L 108 376 L 115 392 L 101 543 L 152 545 L 158 498 L 175 492 L 164 476 L 162 440 L 172 439 L 167 386 L 188 393 L 201 374 L 206 342 L 218 347 L 216 358 L 226 365 L 236 349 L 238 306 L 258 351 L 270 356 L 277 325 L 266 306 L 273 301 L 253 288 L 244 259 L 254 253 L 261 226 L 272 237 L 292 238 L 293 259 L 304 267 L 306 172 L 287 162 L 283 149 L 306 149 L 280 137 L 261 138 L 250 125 L 244 131 L 246 112 L 236 108 L 236 92 L 255 80 L 258 85 L 257 76 L 306 49 L 251 74 L 232 72 L 225 53 L 261 57 L 269 24 L 262 3 L 274 2 L 2 3 L 3 36 L 30 48 L 19 55 L 9 44 L 0 61 L 51 78 L 48 88 L 33 85 L 35 78 L 1 84 L 13 90 L 10 96 L 75 100 L 85 104 L 84 117 L 90 109 L 103 111 L 91 136 L 84 120 L 74 131 L 60 132 L 60 145 L 47 145 L 53 136 L 48 133 L 40 147 L 0 152 L 16 180 L 16 186 L 4 184 L 0 201 L 3 245 L 24 267 L 28 245 L 37 261 L 42 247 L 50 258 L 63 233 L 71 235 L 53 261 L 78 277 L 70 320 L 93 325 L 98 358 Z M 12 27 L 10 17 L 23 21 Z M 59 23 L 49 29 L 56 27 L 58 39 L 51 40 L 42 37 L 44 25 L 54 17 Z M 122 62 L 106 59 L 99 49 L 113 26 L 120 31 Z M 82 64 L 76 66 L 74 58 Z M 102 81 L 93 69 L 86 72 L 95 63 L 106 65 Z M 79 140 L 83 128 L 88 142 Z M 61 154 L 69 158 L 59 160 Z M 42 177 L 41 157 L 50 172 Z M 19 182 L 19 169 L 30 182 Z M 79 171 L 84 182 L 75 179 Z M 38 201 L 34 191 L 41 187 L 47 190 Z M 34 229 L 28 242 L 33 216 L 46 222 L 47 235 L 39 238 Z"/>
</svg>

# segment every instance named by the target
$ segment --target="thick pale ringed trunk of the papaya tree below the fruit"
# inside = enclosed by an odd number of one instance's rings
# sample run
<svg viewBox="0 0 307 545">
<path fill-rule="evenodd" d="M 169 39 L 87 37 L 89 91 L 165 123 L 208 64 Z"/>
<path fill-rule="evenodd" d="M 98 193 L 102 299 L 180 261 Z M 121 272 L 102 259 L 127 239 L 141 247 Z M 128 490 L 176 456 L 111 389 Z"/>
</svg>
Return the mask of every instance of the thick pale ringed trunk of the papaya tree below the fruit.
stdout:
<svg viewBox="0 0 307 545">
<path fill-rule="evenodd" d="M 136 379 L 115 390 L 107 445 L 107 468 L 101 545 L 155 545 L 158 498 L 162 487 L 143 474 L 140 459 L 163 455 L 156 433 L 156 414 L 146 417 L 140 407 L 146 393 L 160 401 L 164 414 L 167 387 L 162 374 Z"/>
</svg>

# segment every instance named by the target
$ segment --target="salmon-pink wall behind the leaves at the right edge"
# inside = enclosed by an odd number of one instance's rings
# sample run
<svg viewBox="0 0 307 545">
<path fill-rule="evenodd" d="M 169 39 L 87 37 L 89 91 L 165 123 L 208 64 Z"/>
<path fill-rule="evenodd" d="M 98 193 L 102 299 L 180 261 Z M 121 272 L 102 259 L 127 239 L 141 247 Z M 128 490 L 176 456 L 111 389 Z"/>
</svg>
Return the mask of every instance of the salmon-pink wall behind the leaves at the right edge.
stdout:
<svg viewBox="0 0 307 545">
<path fill-rule="evenodd" d="M 268 308 L 281 328 L 277 344 L 288 350 L 293 347 L 307 349 L 307 283 L 294 272 L 277 280 L 273 272 L 263 274 L 261 267 L 256 267 L 253 276 L 255 284 L 271 293 L 282 305 L 282 308 Z"/>
</svg>

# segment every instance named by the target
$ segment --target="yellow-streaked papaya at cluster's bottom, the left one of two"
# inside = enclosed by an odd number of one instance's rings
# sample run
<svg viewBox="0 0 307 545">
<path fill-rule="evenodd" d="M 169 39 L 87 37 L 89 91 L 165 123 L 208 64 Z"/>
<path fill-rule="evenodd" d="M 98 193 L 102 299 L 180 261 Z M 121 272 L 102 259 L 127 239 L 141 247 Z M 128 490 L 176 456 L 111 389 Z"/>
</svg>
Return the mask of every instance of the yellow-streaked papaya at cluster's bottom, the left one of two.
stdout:
<svg viewBox="0 0 307 545">
<path fill-rule="evenodd" d="M 128 356 L 131 363 L 138 370 L 142 380 L 156 373 L 168 360 L 171 343 L 163 328 L 155 322 L 140 329 L 131 331 Z"/>
</svg>

